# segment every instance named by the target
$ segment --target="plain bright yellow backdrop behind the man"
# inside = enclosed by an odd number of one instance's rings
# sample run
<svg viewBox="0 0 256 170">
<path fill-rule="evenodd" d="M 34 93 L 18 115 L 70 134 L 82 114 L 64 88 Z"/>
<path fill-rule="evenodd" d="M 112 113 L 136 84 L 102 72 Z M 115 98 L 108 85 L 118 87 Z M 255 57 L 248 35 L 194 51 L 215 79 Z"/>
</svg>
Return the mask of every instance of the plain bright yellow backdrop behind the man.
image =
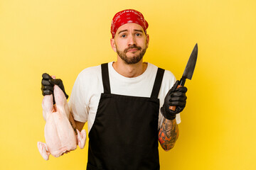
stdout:
<svg viewBox="0 0 256 170">
<path fill-rule="evenodd" d="M 1 0 L 0 169 L 85 169 L 87 143 L 47 162 L 38 152 L 41 74 L 70 94 L 82 69 L 116 60 L 110 23 L 124 8 L 149 22 L 144 61 L 177 79 L 198 42 L 180 136 L 171 151 L 159 148 L 161 169 L 256 169 L 254 0 Z"/>
</svg>

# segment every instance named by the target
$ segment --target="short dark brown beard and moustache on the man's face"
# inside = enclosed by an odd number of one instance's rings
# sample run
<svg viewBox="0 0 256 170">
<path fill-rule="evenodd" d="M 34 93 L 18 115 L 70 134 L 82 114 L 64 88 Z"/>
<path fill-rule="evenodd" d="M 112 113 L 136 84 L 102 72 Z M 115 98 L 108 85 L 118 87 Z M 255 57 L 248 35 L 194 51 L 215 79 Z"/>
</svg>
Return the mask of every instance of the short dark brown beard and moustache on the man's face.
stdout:
<svg viewBox="0 0 256 170">
<path fill-rule="evenodd" d="M 136 48 L 137 50 L 141 50 L 138 55 L 134 55 L 133 57 L 127 57 L 126 53 L 128 50 Z M 139 47 L 137 45 L 132 45 L 130 47 L 127 47 L 127 49 L 124 50 L 124 52 L 119 51 L 117 49 L 117 55 L 126 63 L 126 64 L 137 64 L 140 60 L 142 60 L 144 54 L 146 52 L 146 48 L 142 49 L 142 47 Z"/>
</svg>

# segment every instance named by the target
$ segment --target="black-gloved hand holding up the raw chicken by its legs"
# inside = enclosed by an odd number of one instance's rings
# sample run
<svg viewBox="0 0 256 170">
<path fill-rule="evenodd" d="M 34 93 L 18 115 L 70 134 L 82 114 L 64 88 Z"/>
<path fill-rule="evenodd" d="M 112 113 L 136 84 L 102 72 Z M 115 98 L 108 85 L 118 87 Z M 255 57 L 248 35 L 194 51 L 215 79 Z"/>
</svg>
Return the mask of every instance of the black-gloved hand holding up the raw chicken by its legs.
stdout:
<svg viewBox="0 0 256 170">
<path fill-rule="evenodd" d="M 61 79 L 53 79 L 50 77 L 49 74 L 44 73 L 42 75 L 43 79 L 41 82 L 41 91 L 43 96 L 53 94 L 53 86 L 58 85 L 60 89 L 63 91 L 65 94 L 65 97 L 68 99 L 68 94 L 65 93 L 63 81 Z M 53 98 L 53 104 L 55 103 L 54 98 Z"/>
</svg>

